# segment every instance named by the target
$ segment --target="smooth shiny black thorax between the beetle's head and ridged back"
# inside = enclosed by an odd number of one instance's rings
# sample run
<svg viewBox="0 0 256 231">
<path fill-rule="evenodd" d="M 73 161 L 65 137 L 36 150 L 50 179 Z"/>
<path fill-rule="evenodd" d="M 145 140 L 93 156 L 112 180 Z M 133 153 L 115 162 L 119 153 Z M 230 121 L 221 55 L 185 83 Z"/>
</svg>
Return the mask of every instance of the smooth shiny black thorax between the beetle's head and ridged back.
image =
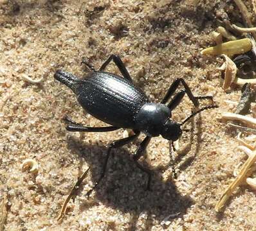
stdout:
<svg viewBox="0 0 256 231">
<path fill-rule="evenodd" d="M 151 137 L 161 135 L 170 115 L 170 109 L 164 104 L 145 103 L 135 118 L 136 129 Z"/>
</svg>

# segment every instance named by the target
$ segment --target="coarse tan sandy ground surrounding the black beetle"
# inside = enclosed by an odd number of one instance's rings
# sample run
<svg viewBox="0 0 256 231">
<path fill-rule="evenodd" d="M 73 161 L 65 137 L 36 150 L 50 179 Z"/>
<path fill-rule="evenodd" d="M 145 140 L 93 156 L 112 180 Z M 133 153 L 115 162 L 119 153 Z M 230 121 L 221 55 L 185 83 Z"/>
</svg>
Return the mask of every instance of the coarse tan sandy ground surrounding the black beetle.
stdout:
<svg viewBox="0 0 256 231">
<path fill-rule="evenodd" d="M 237 191 L 221 214 L 214 210 L 234 166 L 245 159 L 236 149 L 237 133 L 217 119 L 221 112 L 234 112 L 224 99 L 238 101 L 241 91 L 225 93 L 216 59 L 199 54 L 213 45 L 209 34 L 221 9 L 241 22 L 233 2 L 225 2 L 0 1 L 0 199 L 8 195 L 5 230 L 256 230 L 256 194 L 249 187 Z M 136 141 L 114 150 L 104 182 L 87 199 L 84 195 L 100 176 L 107 144 L 122 138 L 123 130 L 67 132 L 61 122 L 65 115 L 87 126 L 104 123 L 83 112 L 53 74 L 64 69 L 85 76 L 89 70 L 80 65 L 82 57 L 98 69 L 113 53 L 122 57 L 151 101 L 159 102 L 174 78 L 183 77 L 195 95 L 213 95 L 219 108 L 187 124 L 190 132 L 183 133 L 176 156 L 176 180 L 171 178 L 168 142 L 154 138 L 140 160 L 153 175 L 152 191 L 145 191 L 146 175 L 131 158 Z M 108 71 L 118 73 L 114 65 Z M 43 81 L 28 83 L 24 76 Z M 191 110 L 186 96 L 173 119 L 182 121 Z M 39 163 L 37 174 L 21 171 L 27 158 Z M 87 167 L 89 175 L 69 202 L 68 214 L 57 221 L 69 189 Z"/>
</svg>

